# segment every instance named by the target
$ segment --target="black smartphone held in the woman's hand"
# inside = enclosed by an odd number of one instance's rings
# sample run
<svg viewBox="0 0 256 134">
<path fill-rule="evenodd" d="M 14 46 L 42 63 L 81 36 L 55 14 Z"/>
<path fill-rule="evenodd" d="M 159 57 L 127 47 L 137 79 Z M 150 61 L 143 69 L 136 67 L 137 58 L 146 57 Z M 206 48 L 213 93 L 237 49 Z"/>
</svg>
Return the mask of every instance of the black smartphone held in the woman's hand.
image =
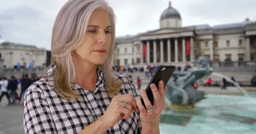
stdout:
<svg viewBox="0 0 256 134">
<path fill-rule="evenodd" d="M 157 71 L 154 73 L 153 77 L 151 78 L 151 80 L 148 83 L 148 86 L 145 89 L 145 91 L 148 95 L 148 100 L 151 102 L 152 106 L 154 105 L 154 97 L 153 97 L 153 93 L 150 88 L 150 85 L 152 83 L 154 83 L 158 89 L 158 83 L 159 83 L 159 81 L 162 80 L 163 87 L 165 87 L 174 71 L 175 71 L 175 66 L 159 66 L 157 68 Z M 143 106 L 145 106 L 145 103 L 144 103 L 142 97 L 141 97 L 141 102 L 142 102 Z"/>
</svg>

